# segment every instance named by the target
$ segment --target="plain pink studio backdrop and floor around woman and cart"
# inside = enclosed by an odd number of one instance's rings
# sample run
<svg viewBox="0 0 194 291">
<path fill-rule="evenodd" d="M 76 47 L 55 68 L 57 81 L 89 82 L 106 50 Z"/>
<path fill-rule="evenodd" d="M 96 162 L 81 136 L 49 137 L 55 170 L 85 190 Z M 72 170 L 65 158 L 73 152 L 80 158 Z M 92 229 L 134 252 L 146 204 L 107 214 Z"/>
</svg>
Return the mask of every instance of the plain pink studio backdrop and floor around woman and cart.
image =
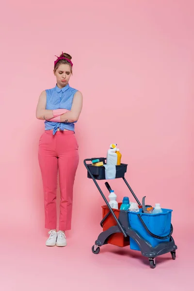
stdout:
<svg viewBox="0 0 194 291">
<path fill-rule="evenodd" d="M 51 3 L 52 2 L 52 3 Z M 106 290 L 191 282 L 194 235 L 194 2 L 192 0 L 8 0 L 1 9 L 0 276 L 3 291 Z M 37 159 L 40 93 L 55 86 L 55 54 L 70 53 L 70 85 L 84 97 L 76 125 L 80 164 L 66 248 L 45 246 Z M 177 260 L 147 259 L 129 248 L 91 247 L 103 199 L 85 158 L 117 143 L 126 178 L 141 200 L 173 209 Z M 122 180 L 110 182 L 118 201 Z M 108 191 L 100 182 L 104 194 Z M 129 196 L 130 198 L 131 196 Z M 153 274 L 155 276 L 153 276 Z M 148 281 L 147 276 L 151 275 Z M 139 278 L 141 278 L 141 283 Z M 140 283 L 140 284 L 139 284 Z M 109 285 L 108 285 L 109 284 Z M 190 285 L 191 286 L 191 285 Z M 187 290 L 192 290 L 187 289 Z"/>
</svg>

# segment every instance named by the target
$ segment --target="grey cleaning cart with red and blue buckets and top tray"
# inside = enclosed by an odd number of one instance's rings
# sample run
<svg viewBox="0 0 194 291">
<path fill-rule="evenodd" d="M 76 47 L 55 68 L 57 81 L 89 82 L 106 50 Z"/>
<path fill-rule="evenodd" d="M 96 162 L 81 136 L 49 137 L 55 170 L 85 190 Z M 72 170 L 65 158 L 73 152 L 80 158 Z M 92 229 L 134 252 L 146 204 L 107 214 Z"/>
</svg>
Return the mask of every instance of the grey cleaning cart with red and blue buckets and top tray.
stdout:
<svg viewBox="0 0 194 291">
<path fill-rule="evenodd" d="M 97 180 L 105 180 L 105 167 L 87 163 L 96 159 L 105 164 L 106 158 L 92 158 L 85 159 L 84 165 L 87 169 L 87 177 L 94 181 L 106 205 L 102 206 L 103 219 L 100 222 L 103 231 L 92 246 L 92 252 L 98 254 L 100 247 L 107 243 L 121 247 L 130 245 L 130 249 L 141 251 L 142 255 L 149 259 L 152 269 L 156 267 L 156 257 L 158 256 L 171 253 L 172 259 L 176 259 L 177 245 L 172 237 L 172 210 L 162 209 L 162 213 L 159 214 L 144 213 L 142 204 L 125 178 L 128 164 L 116 166 L 115 178 L 124 180 L 138 204 L 139 212 L 112 209 L 97 183 Z M 111 191 L 109 183 L 105 182 L 105 185 Z M 120 205 L 121 203 L 118 203 L 119 208 Z"/>
</svg>

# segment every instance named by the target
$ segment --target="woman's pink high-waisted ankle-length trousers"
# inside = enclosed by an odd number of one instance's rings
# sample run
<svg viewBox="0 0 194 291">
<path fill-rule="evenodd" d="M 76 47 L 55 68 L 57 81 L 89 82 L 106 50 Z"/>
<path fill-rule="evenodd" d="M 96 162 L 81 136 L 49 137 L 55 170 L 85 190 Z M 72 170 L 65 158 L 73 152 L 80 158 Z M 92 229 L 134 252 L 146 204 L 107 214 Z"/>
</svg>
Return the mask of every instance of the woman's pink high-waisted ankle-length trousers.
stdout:
<svg viewBox="0 0 194 291">
<path fill-rule="evenodd" d="M 39 141 L 38 160 L 42 174 L 45 227 L 57 228 L 56 191 L 59 170 L 61 192 L 59 230 L 71 229 L 73 184 L 79 163 L 74 131 L 45 130 Z"/>
</svg>

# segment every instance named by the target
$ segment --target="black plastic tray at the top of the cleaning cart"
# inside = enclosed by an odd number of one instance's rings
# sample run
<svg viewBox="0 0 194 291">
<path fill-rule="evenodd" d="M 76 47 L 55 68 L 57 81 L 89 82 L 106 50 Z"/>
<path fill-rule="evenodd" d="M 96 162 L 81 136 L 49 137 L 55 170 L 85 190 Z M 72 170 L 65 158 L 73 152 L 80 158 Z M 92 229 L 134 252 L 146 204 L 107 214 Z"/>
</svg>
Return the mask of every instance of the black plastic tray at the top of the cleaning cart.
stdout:
<svg viewBox="0 0 194 291">
<path fill-rule="evenodd" d="M 115 178 L 125 177 L 125 173 L 127 172 L 127 166 L 128 166 L 128 164 L 121 164 L 119 166 L 116 166 L 116 177 Z M 104 166 L 97 167 L 97 166 L 93 166 L 92 164 L 88 164 L 88 168 L 90 169 L 90 171 L 95 179 L 105 180 L 105 168 L 104 168 Z M 87 177 L 91 178 L 89 173 L 87 174 Z"/>
</svg>

